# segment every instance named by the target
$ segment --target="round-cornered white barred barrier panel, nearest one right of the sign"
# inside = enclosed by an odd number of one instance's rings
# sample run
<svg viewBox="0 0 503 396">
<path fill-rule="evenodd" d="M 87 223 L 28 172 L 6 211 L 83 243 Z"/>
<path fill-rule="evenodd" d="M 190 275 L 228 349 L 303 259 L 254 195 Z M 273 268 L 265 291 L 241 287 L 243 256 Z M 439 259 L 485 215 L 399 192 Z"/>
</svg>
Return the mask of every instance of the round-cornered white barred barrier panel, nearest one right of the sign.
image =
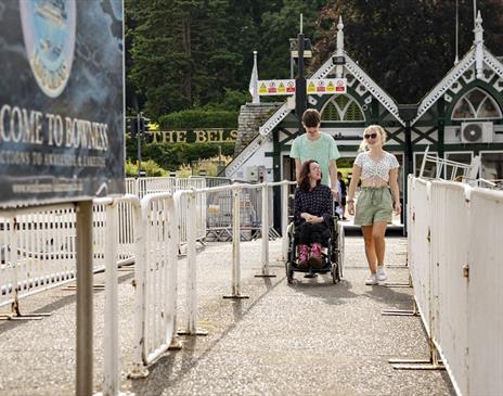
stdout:
<svg viewBox="0 0 503 396">
<path fill-rule="evenodd" d="M 173 196 L 143 197 L 140 226 L 141 253 L 136 265 L 136 368 L 143 375 L 147 366 L 164 354 L 175 334 L 177 302 L 177 225 Z"/>
</svg>

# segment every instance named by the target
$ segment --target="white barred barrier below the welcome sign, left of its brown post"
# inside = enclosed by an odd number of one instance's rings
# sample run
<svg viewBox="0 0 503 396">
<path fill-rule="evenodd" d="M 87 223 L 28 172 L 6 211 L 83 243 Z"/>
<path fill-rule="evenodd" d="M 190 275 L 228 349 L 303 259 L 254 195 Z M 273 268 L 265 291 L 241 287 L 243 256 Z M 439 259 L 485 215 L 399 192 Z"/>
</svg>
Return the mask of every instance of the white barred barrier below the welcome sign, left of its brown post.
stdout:
<svg viewBox="0 0 503 396">
<path fill-rule="evenodd" d="M 73 204 L 1 212 L 0 306 L 54 288 L 76 277 Z"/>
</svg>

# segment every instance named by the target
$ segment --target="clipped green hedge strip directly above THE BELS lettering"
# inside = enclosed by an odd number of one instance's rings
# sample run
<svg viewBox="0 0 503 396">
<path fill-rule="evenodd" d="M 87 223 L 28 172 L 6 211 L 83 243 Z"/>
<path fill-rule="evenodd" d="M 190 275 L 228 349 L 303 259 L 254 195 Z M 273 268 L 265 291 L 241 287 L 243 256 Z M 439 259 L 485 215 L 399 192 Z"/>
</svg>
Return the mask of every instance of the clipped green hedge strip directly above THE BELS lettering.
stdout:
<svg viewBox="0 0 503 396">
<path fill-rule="evenodd" d="M 238 112 L 185 110 L 159 117 L 162 130 L 191 128 L 237 128 Z"/>
</svg>

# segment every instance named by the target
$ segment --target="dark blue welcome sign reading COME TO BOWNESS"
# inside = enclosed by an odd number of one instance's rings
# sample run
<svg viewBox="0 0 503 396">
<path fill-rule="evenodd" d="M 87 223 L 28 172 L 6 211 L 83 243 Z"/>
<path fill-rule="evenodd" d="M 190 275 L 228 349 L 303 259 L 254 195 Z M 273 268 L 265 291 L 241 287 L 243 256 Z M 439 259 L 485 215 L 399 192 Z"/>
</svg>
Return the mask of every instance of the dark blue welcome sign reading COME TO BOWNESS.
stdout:
<svg viewBox="0 0 503 396">
<path fill-rule="evenodd" d="M 120 0 L 0 0 L 0 205 L 124 193 Z"/>
</svg>

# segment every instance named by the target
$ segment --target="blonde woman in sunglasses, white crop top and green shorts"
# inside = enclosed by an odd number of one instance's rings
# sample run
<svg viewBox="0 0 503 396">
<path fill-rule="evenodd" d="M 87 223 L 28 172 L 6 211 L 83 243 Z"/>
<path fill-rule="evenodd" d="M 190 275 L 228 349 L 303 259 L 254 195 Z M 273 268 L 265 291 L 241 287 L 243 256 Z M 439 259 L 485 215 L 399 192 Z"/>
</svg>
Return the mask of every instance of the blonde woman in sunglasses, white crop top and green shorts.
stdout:
<svg viewBox="0 0 503 396">
<path fill-rule="evenodd" d="M 392 210 L 401 213 L 398 188 L 397 157 L 383 150 L 386 131 L 378 125 L 369 126 L 363 132 L 360 153 L 354 159 L 348 191 L 348 213 L 361 226 L 365 255 L 371 276 L 365 284 L 374 285 L 387 279 L 384 269 L 386 225 L 391 222 Z M 361 179 L 361 192 L 354 210 L 354 191 Z M 356 212 L 356 213 L 354 213 Z"/>
</svg>

